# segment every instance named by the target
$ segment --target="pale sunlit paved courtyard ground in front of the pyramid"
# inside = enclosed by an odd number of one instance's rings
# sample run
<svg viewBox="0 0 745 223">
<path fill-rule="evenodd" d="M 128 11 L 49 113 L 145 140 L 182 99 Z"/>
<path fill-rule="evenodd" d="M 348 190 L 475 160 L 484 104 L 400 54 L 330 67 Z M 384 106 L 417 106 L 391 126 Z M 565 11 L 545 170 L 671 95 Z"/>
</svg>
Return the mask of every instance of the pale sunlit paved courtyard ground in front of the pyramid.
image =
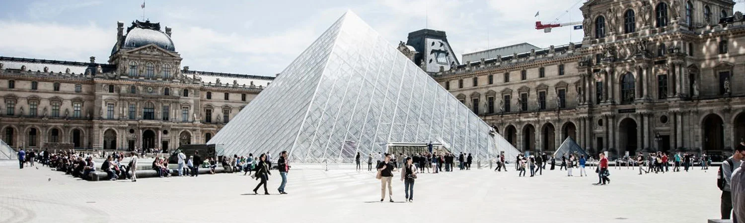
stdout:
<svg viewBox="0 0 745 223">
<path fill-rule="evenodd" d="M 379 203 L 373 172 L 292 170 L 288 195 L 253 195 L 258 181 L 238 174 L 88 182 L 45 167 L 0 165 L 0 222 L 706 222 L 719 216 L 716 169 L 636 175 L 611 169 L 597 176 L 546 171 L 472 169 L 422 174 L 414 203 Z M 530 174 L 528 172 L 528 174 Z M 575 171 L 575 175 L 579 175 Z M 398 176 L 398 174 L 396 174 Z"/>
</svg>

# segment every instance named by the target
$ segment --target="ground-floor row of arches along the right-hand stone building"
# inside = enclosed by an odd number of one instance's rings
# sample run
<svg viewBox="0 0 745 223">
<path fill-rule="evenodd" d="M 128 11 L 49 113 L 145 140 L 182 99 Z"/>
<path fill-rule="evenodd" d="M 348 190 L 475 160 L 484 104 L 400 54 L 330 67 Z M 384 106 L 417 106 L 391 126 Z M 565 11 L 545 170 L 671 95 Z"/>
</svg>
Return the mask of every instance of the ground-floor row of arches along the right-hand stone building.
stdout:
<svg viewBox="0 0 745 223">
<path fill-rule="evenodd" d="M 568 137 L 587 152 L 706 152 L 729 155 L 745 140 L 745 110 L 728 114 L 694 112 L 635 113 L 600 118 L 567 118 L 562 123 L 523 122 L 492 125 L 522 152 L 554 152 Z M 729 121 L 728 121 L 729 120 Z M 536 127 L 537 126 L 537 127 Z M 558 130 L 555 126 L 561 126 Z"/>
</svg>

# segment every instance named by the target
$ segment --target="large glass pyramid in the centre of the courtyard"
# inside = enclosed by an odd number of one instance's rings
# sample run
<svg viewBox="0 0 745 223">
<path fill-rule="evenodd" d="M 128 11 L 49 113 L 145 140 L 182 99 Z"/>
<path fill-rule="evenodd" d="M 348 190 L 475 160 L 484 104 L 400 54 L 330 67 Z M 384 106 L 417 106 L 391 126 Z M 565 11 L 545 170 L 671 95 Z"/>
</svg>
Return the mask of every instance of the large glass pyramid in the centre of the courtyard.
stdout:
<svg viewBox="0 0 745 223">
<path fill-rule="evenodd" d="M 475 160 L 517 152 L 445 88 L 348 11 L 209 140 L 218 155 L 287 150 L 354 161 L 391 142 L 442 143 Z"/>
</svg>

